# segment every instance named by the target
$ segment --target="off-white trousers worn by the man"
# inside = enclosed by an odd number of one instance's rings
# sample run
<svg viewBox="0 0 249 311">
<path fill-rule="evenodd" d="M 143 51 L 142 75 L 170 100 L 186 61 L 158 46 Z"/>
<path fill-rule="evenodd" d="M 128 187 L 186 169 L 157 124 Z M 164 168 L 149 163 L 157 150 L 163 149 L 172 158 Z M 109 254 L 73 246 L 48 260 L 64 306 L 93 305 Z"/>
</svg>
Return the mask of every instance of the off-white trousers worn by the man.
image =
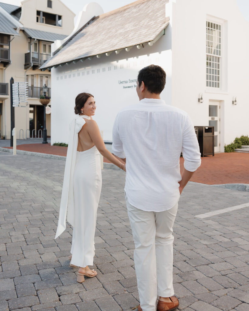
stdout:
<svg viewBox="0 0 249 311">
<path fill-rule="evenodd" d="M 155 311 L 157 296 L 170 297 L 173 289 L 173 225 L 178 202 L 167 211 L 143 211 L 129 204 L 128 216 L 135 243 L 134 262 L 140 305 Z"/>
</svg>

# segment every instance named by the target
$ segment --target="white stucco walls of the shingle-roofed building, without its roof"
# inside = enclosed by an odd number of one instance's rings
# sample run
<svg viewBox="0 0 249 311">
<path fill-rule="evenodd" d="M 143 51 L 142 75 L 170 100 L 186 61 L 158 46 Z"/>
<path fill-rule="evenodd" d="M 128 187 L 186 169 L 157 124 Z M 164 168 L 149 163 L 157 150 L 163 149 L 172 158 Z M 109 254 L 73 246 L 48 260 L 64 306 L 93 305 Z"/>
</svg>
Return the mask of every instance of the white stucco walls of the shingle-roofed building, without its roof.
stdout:
<svg viewBox="0 0 249 311">
<path fill-rule="evenodd" d="M 123 49 L 118 54 L 51 68 L 51 143 L 67 142 L 74 100 L 80 92 L 94 95 L 97 105 L 94 119 L 104 132 L 104 140 L 111 141 L 118 111 L 138 102 L 135 90 L 138 71 L 152 63 L 166 71 L 161 98 L 167 104 L 185 110 L 195 126 L 215 124 L 215 152 L 224 151 L 224 144 L 235 137 L 249 134 L 246 76 L 249 42 L 245 40 L 249 36 L 249 22 L 243 18 L 236 0 L 229 1 L 229 6 L 226 0 L 170 0 L 164 2 L 161 10 L 169 17 L 169 25 L 152 46 L 144 44 L 141 49 Z M 143 14 L 146 19 L 146 12 Z M 220 27 L 217 33 L 221 33 L 221 49 L 220 55 L 217 54 L 218 65 L 215 64 L 218 69 L 212 68 L 211 63 L 207 65 L 210 56 L 206 52 L 207 22 Z M 211 81 L 218 79 L 219 87 L 212 86 L 212 82 L 207 86 L 209 70 L 213 72 Z M 198 102 L 201 95 L 203 102 Z M 233 104 L 235 97 L 237 105 Z"/>
</svg>

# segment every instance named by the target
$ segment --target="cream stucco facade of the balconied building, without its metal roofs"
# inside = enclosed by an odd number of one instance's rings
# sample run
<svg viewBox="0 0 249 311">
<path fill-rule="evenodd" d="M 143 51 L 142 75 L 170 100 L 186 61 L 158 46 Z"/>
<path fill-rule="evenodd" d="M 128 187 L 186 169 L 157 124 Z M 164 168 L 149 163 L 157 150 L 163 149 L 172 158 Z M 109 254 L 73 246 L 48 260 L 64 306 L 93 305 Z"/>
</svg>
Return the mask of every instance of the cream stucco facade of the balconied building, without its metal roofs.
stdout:
<svg viewBox="0 0 249 311">
<path fill-rule="evenodd" d="M 45 70 L 42 72 L 39 69 L 39 63 L 35 65 L 33 60 L 38 55 L 47 58 L 51 55 L 51 44 L 54 42 L 51 38 L 46 39 L 47 33 L 52 33 L 55 37 L 56 34 L 64 35 L 66 37 L 73 31 L 74 16 L 75 14 L 69 10 L 63 2 L 53 0 L 52 8 L 48 7 L 47 0 L 25 0 L 21 2 L 21 16 L 19 21 L 15 21 L 11 14 L 9 19 L 16 25 L 18 35 L 10 36 L 10 59 L 9 64 L 3 65 L 0 63 L 0 83 L 8 83 L 8 95 L 0 95 L 0 104 L 2 103 L 1 117 L 1 138 L 10 139 L 11 137 L 11 124 L 10 124 L 10 79 L 13 77 L 15 82 L 27 81 L 29 84 L 28 104 L 26 107 L 15 107 L 15 127 L 17 129 L 17 138 L 32 137 L 32 129 L 34 128 L 36 134 L 38 129 L 42 128 L 43 124 L 43 106 L 39 102 L 41 88 L 46 83 L 51 88 L 50 71 Z M 14 8 L 14 6 L 13 6 Z M 2 10 L 2 8 L 1 8 Z M 19 8 L 17 8 L 19 10 Z M 3 12 L 3 11 L 2 11 Z M 40 22 L 40 15 L 37 12 L 44 12 L 43 14 L 52 14 L 53 16 L 59 15 L 61 17 L 61 26 L 49 25 Z M 3 12 L 4 14 L 6 12 Z M 51 16 L 52 16 L 51 15 Z M 37 21 L 38 20 L 38 21 Z M 32 29 L 37 32 L 37 37 L 29 37 L 25 32 L 26 29 Z M 1 29 L 0 29 L 1 34 Z M 43 35 L 40 38 L 40 35 Z M 30 49 L 31 44 L 31 49 Z M 28 53 L 31 52 L 30 59 L 32 63 L 27 63 L 26 58 Z M 38 54 L 39 53 L 39 54 Z M 52 105 L 52 100 L 49 105 Z M 39 108 L 40 107 L 40 108 Z M 30 119 L 33 119 L 30 123 Z M 33 123 L 32 123 L 33 122 Z M 39 123 L 39 124 L 38 124 Z M 50 114 L 46 115 L 46 128 L 47 135 L 50 136 Z M 40 131 L 41 133 L 41 131 Z M 35 135 L 35 131 L 33 131 Z"/>
</svg>

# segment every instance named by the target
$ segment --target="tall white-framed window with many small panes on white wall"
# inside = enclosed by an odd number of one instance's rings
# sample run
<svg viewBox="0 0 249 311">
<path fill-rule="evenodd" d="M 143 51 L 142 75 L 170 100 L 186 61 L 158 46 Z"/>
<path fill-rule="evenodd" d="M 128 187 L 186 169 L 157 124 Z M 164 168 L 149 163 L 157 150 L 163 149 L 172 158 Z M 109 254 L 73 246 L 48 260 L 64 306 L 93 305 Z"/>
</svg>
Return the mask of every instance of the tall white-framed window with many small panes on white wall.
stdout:
<svg viewBox="0 0 249 311">
<path fill-rule="evenodd" d="M 221 25 L 206 21 L 206 86 L 220 87 Z"/>
</svg>

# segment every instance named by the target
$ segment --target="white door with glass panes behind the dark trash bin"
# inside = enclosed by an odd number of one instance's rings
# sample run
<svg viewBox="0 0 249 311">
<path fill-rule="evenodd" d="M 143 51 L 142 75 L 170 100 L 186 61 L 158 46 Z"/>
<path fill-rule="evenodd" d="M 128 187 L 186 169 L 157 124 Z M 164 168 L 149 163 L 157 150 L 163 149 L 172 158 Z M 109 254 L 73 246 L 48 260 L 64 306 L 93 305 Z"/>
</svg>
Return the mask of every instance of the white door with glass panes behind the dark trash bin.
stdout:
<svg viewBox="0 0 249 311">
<path fill-rule="evenodd" d="M 220 151 L 220 102 L 209 100 L 209 126 L 214 127 L 214 152 Z"/>
</svg>

